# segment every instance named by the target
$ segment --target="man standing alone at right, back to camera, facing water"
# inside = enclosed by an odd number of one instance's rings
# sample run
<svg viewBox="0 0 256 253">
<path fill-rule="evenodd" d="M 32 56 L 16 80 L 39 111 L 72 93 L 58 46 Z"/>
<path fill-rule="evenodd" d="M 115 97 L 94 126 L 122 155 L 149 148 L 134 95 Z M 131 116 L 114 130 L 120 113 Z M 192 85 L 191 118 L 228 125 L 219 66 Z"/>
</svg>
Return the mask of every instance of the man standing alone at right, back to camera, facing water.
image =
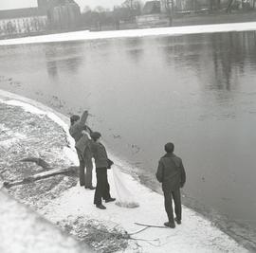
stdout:
<svg viewBox="0 0 256 253">
<path fill-rule="evenodd" d="M 180 188 L 183 188 L 186 182 L 186 173 L 181 158 L 174 154 L 174 144 L 169 142 L 164 146 L 164 149 L 166 154 L 159 160 L 156 178 L 162 183 L 164 206 L 169 219 L 169 222 L 164 225 L 174 228 L 174 220 L 178 225 L 181 224 Z"/>
</svg>

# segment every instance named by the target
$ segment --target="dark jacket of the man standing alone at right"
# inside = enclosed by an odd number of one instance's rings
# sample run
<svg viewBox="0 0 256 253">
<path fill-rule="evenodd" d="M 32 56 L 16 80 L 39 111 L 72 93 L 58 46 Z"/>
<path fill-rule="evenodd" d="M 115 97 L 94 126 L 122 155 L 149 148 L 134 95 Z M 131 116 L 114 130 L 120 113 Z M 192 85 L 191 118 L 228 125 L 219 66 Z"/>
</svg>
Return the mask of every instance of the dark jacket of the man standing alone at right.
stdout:
<svg viewBox="0 0 256 253">
<path fill-rule="evenodd" d="M 175 154 L 167 153 L 160 158 L 156 172 L 163 190 L 177 190 L 186 182 L 186 172 L 182 160 Z"/>
</svg>

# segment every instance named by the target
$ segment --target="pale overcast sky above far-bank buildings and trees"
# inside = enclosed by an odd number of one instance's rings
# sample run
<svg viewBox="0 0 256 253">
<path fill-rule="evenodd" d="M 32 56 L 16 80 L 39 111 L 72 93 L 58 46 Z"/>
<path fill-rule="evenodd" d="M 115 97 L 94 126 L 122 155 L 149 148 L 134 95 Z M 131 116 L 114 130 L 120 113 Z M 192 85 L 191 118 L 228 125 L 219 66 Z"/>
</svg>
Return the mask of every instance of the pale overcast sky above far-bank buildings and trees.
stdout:
<svg viewBox="0 0 256 253">
<path fill-rule="evenodd" d="M 81 7 L 85 6 L 95 8 L 102 6 L 104 8 L 112 9 L 115 5 L 120 5 L 124 0 L 75 0 Z M 36 7 L 37 0 L 0 0 L 0 9 L 18 9 L 27 7 Z"/>
</svg>

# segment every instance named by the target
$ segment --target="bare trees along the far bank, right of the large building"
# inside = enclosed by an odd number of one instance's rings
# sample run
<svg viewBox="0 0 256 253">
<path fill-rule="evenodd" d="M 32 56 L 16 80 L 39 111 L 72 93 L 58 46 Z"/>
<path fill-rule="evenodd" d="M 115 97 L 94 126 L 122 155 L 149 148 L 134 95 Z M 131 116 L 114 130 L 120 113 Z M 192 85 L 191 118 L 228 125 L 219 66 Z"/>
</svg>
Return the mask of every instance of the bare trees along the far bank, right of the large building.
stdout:
<svg viewBox="0 0 256 253">
<path fill-rule="evenodd" d="M 161 11 L 170 18 L 170 25 L 175 15 L 185 12 L 204 11 L 213 12 L 231 12 L 233 9 L 250 10 L 255 9 L 256 0 L 161 0 Z M 82 10 L 81 23 L 82 26 L 91 30 L 101 29 L 119 29 L 127 25 L 133 28 L 132 24 L 136 24 L 136 17 L 143 14 L 144 4 L 140 0 L 125 0 L 120 6 L 113 9 L 104 9 L 101 6 L 91 9 L 86 6 Z M 182 11 L 184 10 L 184 11 Z M 152 14 L 159 10 L 152 9 Z"/>
</svg>

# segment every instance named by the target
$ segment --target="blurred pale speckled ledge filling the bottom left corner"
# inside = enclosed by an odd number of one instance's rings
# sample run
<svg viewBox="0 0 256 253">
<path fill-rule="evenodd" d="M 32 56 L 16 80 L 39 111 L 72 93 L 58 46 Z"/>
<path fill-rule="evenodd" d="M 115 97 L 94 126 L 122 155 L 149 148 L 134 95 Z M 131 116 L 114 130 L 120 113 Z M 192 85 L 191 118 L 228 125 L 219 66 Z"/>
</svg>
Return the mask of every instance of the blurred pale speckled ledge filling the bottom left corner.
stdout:
<svg viewBox="0 0 256 253">
<path fill-rule="evenodd" d="M 0 182 L 1 183 L 1 182 Z M 85 244 L 62 233 L 45 219 L 0 190 L 1 253 L 86 253 Z"/>
</svg>

